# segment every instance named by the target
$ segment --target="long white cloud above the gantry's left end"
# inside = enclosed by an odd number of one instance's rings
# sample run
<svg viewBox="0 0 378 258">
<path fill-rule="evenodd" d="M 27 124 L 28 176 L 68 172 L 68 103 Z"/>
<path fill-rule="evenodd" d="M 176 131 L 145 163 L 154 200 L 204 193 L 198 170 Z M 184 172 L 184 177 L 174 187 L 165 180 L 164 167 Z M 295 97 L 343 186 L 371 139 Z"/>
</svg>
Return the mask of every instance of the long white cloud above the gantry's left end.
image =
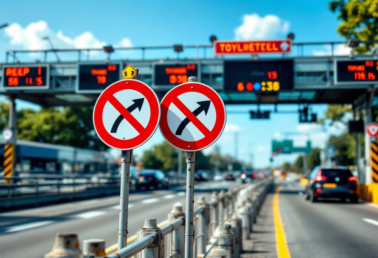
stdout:
<svg viewBox="0 0 378 258">
<path fill-rule="evenodd" d="M 27 50 L 50 49 L 49 42 L 43 40 L 43 37 L 46 36 L 50 38 L 54 48 L 102 48 L 107 44 L 89 31 L 74 38 L 65 36 L 62 31 L 54 32 L 46 21 L 30 23 L 25 28 L 18 23 L 13 23 L 5 29 L 5 34 L 11 38 L 11 45 L 22 46 Z M 131 41 L 128 38 L 123 38 L 119 45 L 131 46 Z"/>
</svg>

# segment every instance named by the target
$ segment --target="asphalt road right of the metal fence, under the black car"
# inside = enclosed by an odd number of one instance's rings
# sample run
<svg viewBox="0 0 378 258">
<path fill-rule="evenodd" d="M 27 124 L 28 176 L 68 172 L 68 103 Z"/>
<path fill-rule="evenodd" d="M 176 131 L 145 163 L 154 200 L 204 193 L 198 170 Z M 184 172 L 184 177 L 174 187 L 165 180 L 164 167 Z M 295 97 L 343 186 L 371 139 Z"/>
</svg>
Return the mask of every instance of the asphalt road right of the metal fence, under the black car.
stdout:
<svg viewBox="0 0 378 258">
<path fill-rule="evenodd" d="M 378 256 L 378 205 L 339 200 L 305 201 L 304 186 L 283 185 L 279 210 L 291 258 L 355 258 Z M 266 197 L 242 258 L 277 258 L 273 222 L 273 189 Z M 287 256 L 278 256 L 284 258 Z"/>
</svg>

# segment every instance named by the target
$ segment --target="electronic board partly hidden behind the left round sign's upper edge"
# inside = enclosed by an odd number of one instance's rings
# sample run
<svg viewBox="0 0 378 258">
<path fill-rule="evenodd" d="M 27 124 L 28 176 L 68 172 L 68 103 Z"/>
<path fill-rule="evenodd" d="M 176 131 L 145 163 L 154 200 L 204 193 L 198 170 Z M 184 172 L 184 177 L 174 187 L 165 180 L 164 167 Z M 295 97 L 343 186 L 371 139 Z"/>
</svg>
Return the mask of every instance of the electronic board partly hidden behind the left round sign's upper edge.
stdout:
<svg viewBox="0 0 378 258">
<path fill-rule="evenodd" d="M 101 93 L 112 83 L 121 80 L 122 63 L 79 63 L 76 92 Z"/>
</svg>

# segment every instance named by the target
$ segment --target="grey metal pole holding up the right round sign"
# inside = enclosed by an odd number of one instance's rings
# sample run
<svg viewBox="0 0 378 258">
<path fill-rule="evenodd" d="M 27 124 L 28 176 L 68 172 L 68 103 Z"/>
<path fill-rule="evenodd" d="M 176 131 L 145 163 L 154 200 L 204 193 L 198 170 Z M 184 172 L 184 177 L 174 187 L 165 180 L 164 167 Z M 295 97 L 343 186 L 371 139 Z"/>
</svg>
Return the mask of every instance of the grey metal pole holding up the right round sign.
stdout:
<svg viewBox="0 0 378 258">
<path fill-rule="evenodd" d="M 195 152 L 186 152 L 185 258 L 193 258 Z"/>
</svg>

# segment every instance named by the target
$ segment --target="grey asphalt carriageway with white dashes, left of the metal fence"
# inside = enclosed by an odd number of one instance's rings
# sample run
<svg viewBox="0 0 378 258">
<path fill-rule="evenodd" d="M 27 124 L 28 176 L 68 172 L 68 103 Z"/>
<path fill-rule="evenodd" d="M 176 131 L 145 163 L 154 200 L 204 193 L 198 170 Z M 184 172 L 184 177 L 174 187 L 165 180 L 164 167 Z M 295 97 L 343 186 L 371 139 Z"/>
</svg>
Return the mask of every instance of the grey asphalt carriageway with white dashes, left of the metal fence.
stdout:
<svg viewBox="0 0 378 258">
<path fill-rule="evenodd" d="M 227 190 L 239 182 L 195 183 L 195 200 L 209 201 L 214 190 Z M 131 193 L 129 197 L 129 235 L 134 235 L 145 218 L 167 219 L 172 205 L 185 208 L 185 186 L 168 190 Z M 77 232 L 79 243 L 88 238 L 105 239 L 106 246 L 118 241 L 119 196 L 56 204 L 0 213 L 0 257 L 41 258 L 51 250 L 57 232 Z"/>
</svg>

